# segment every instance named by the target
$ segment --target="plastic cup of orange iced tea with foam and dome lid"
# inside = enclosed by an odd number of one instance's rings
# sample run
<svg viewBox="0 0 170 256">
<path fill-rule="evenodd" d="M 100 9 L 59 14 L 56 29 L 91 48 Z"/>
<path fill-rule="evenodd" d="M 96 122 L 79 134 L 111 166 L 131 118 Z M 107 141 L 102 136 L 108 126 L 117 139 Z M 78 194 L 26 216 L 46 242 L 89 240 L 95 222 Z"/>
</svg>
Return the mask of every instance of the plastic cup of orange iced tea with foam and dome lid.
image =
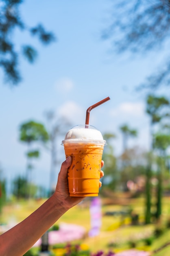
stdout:
<svg viewBox="0 0 170 256">
<path fill-rule="evenodd" d="M 70 196 L 98 196 L 105 144 L 101 132 L 94 126 L 78 125 L 67 132 L 62 145 L 65 157 L 72 157 L 68 169 Z"/>
</svg>

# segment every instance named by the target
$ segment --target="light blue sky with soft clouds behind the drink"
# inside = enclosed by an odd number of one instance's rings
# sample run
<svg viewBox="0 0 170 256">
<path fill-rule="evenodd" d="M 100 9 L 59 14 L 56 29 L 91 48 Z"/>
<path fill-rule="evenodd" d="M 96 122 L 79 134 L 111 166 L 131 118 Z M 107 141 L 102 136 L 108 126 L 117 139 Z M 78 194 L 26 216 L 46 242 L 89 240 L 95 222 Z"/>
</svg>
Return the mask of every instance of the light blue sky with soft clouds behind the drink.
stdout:
<svg viewBox="0 0 170 256">
<path fill-rule="evenodd" d="M 87 108 L 108 96 L 110 101 L 91 111 L 89 123 L 102 133 L 116 133 L 113 146 L 117 155 L 122 149 L 119 127 L 125 123 L 139 133 L 129 143 L 148 149 L 149 119 L 143 94 L 135 93 L 134 87 L 153 72 L 162 56 L 110 54 L 109 42 L 100 40 L 100 33 L 109 22 L 111 6 L 109 0 L 27 0 L 22 4 L 20 13 L 26 24 L 42 22 L 57 41 L 44 47 L 16 31 L 16 49 L 21 43 L 31 43 L 39 56 L 34 65 L 20 61 L 23 80 L 15 88 L 3 83 L 0 71 L 0 163 L 9 180 L 25 172 L 26 146 L 18 141 L 22 122 L 34 119 L 48 127 L 44 112 L 54 110 L 57 117 L 67 117 L 72 126 L 83 124 Z M 60 163 L 64 160 L 62 139 L 57 141 Z M 59 168 L 60 164 L 56 180 Z M 47 185 L 49 169 L 50 156 L 44 150 L 35 162 L 33 180 Z"/>
</svg>

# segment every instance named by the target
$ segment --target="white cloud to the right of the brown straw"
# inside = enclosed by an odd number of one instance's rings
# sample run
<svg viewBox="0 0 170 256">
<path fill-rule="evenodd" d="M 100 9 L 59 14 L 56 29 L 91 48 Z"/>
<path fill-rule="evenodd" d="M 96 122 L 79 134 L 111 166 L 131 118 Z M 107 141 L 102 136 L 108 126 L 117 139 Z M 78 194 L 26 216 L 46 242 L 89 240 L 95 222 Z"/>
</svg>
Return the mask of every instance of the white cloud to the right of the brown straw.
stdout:
<svg viewBox="0 0 170 256">
<path fill-rule="evenodd" d="M 117 117 L 120 115 L 141 117 L 144 116 L 144 103 L 142 102 L 124 102 L 120 104 L 117 108 L 111 110 L 111 116 Z"/>
</svg>

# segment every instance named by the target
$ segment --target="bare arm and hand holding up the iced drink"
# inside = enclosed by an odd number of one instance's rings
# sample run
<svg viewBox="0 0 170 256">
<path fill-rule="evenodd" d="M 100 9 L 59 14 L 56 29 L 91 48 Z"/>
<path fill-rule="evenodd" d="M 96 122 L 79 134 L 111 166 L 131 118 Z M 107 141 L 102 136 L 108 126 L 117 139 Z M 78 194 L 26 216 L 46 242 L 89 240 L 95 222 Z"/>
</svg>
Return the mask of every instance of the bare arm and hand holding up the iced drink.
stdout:
<svg viewBox="0 0 170 256">
<path fill-rule="evenodd" d="M 71 157 L 68 157 L 61 165 L 54 194 L 25 220 L 0 236 L 1 256 L 9 256 L 11 252 L 13 256 L 22 256 L 66 211 L 83 200 L 69 196 L 67 172 L 70 165 Z"/>
</svg>

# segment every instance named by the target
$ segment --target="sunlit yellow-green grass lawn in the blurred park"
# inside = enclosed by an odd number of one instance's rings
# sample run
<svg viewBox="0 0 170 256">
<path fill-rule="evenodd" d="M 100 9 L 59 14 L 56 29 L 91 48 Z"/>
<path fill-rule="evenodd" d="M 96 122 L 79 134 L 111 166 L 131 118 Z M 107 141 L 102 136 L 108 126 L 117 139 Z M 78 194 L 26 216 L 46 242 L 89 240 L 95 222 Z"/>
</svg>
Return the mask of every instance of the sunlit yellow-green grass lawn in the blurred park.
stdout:
<svg viewBox="0 0 170 256">
<path fill-rule="evenodd" d="M 31 214 L 35 209 L 37 209 L 44 200 L 38 201 L 20 201 L 11 204 L 7 204 L 1 216 L 1 222 L 10 222 L 15 220 L 16 223 L 22 221 L 29 214 Z M 144 215 L 144 198 L 132 199 L 127 205 L 103 205 L 102 206 L 102 226 L 100 229 L 100 234 L 94 238 L 89 238 L 87 235 L 83 240 L 75 241 L 74 243 L 83 243 L 89 246 L 92 252 L 97 252 L 99 250 L 105 250 L 106 252 L 110 249 L 118 252 L 122 249 L 129 248 L 129 241 L 137 240 L 140 235 L 147 234 L 148 232 L 153 232 L 155 229 L 155 224 L 151 225 L 124 225 L 119 227 L 121 222 L 120 216 L 105 216 L 107 211 L 120 211 L 126 210 L 131 207 L 133 211 L 140 216 Z M 169 198 L 163 198 L 163 223 L 170 216 L 170 200 Z M 66 212 L 57 222 L 74 223 L 85 227 L 86 233 L 90 229 L 90 213 L 89 213 L 89 202 L 86 200 L 85 204 L 80 204 L 73 207 L 68 212 Z M 128 222 L 128 221 L 127 221 Z M 155 249 L 161 247 L 163 244 L 167 243 L 170 237 L 170 230 L 167 230 L 161 237 L 154 240 L 153 244 L 146 247 L 144 242 L 137 243 L 138 248 L 149 249 L 153 252 Z M 167 256 L 170 250 L 170 246 L 154 254 L 154 256 Z"/>
</svg>

